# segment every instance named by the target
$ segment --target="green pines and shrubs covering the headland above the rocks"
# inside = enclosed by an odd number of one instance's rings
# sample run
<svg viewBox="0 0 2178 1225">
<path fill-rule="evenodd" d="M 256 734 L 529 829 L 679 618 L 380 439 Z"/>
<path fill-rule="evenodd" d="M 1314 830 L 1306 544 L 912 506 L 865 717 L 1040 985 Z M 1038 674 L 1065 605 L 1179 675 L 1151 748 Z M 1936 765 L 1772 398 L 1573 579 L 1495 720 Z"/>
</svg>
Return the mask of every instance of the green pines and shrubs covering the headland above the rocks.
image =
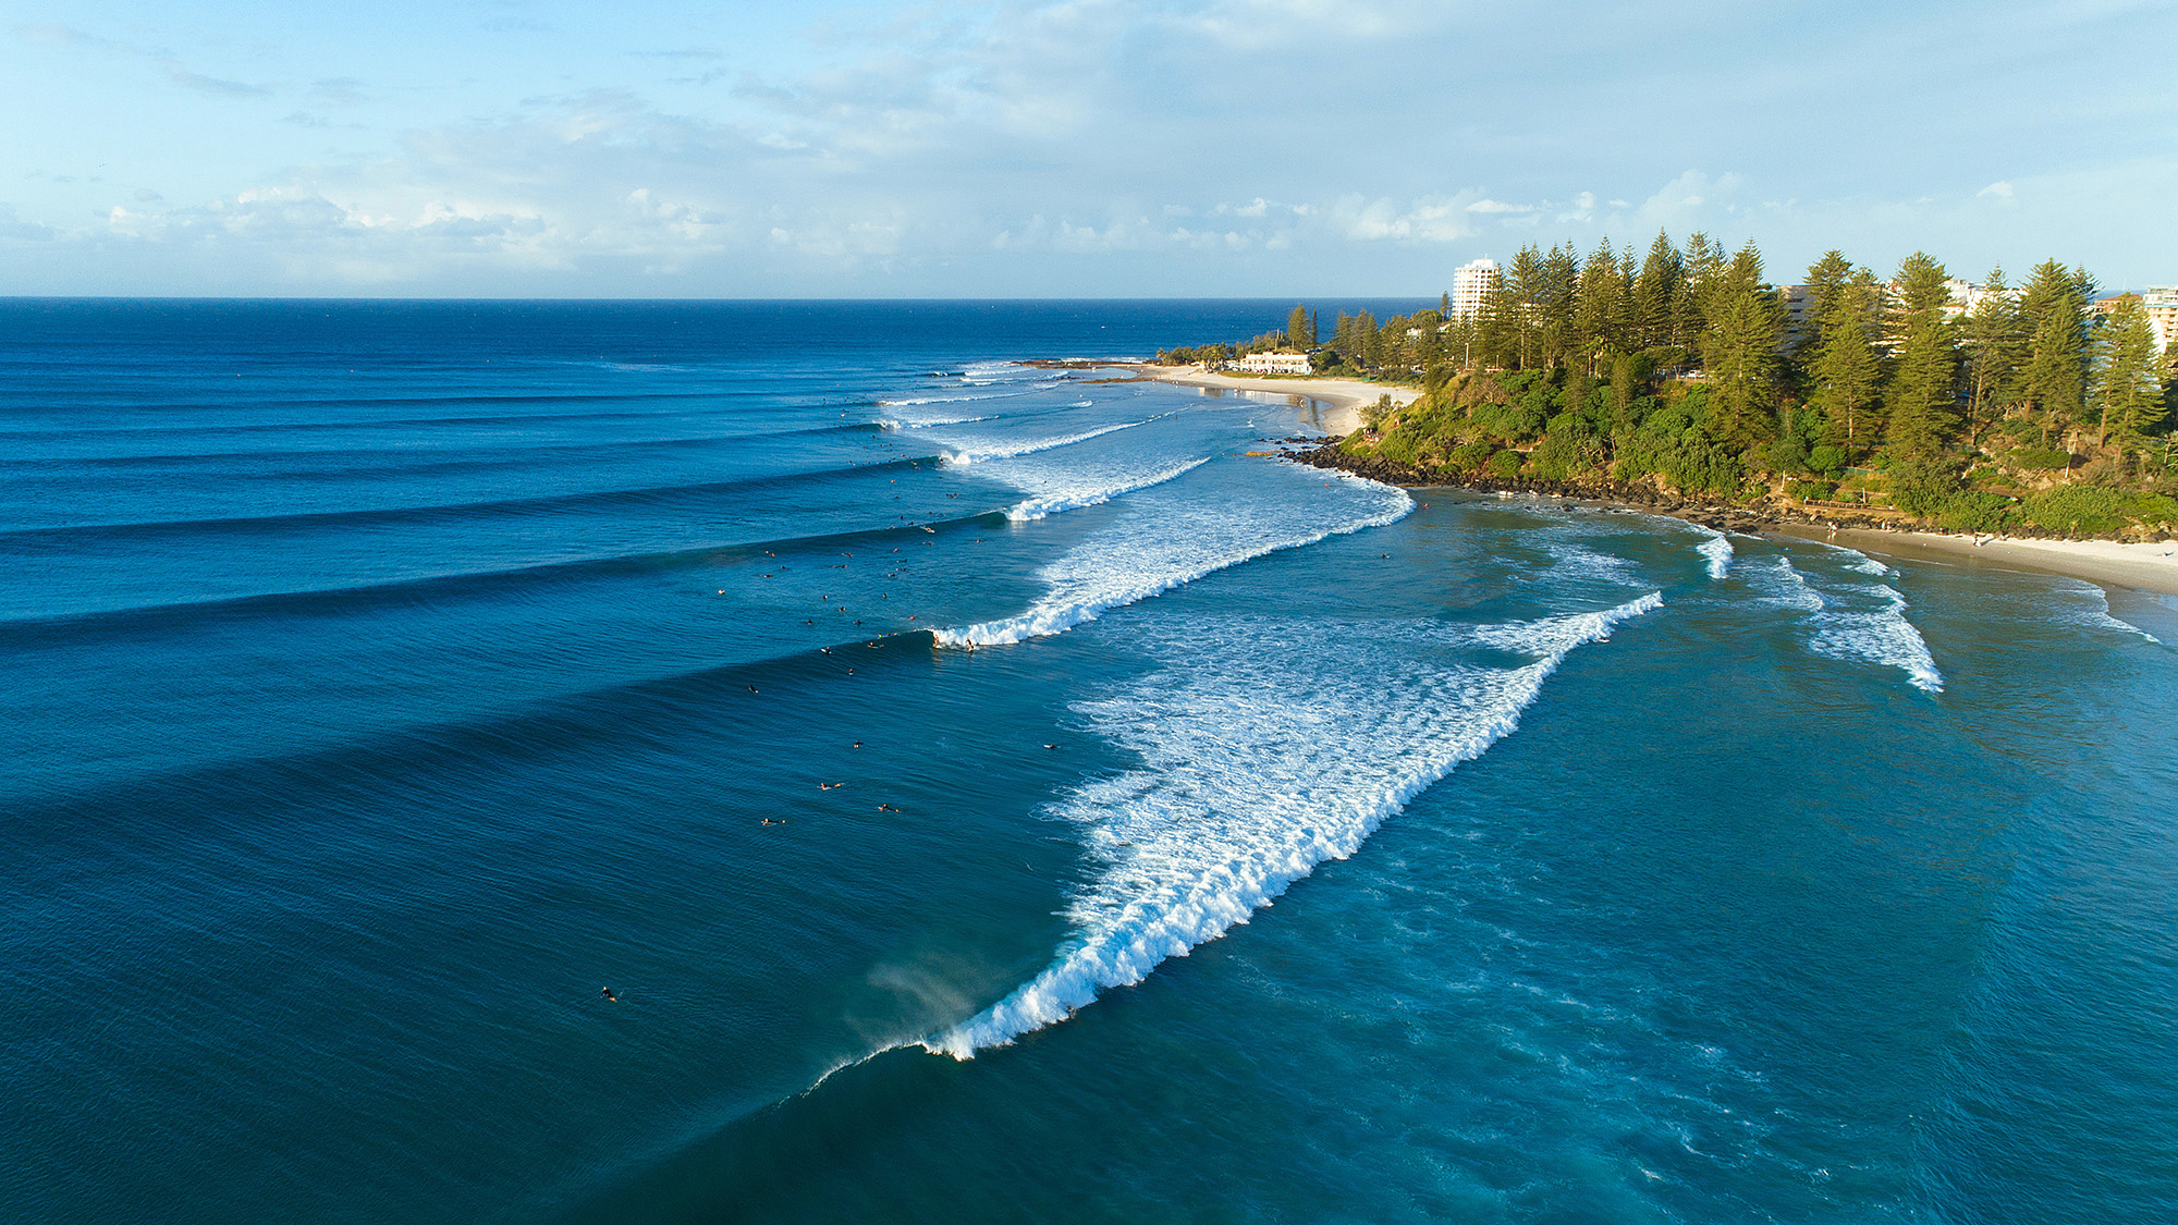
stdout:
<svg viewBox="0 0 2178 1225">
<path fill-rule="evenodd" d="M 1851 508 L 1954 530 L 2178 530 L 2178 344 L 2139 299 L 2049 259 L 1967 288 L 1925 253 L 1880 279 L 1832 251 L 1801 286 L 1749 242 L 1527 246 L 1483 310 L 1287 329 L 1318 371 L 1409 381 L 1357 460 L 1531 482 L 1638 482 L 1736 504 Z M 1215 360 L 1215 357 L 1209 357 Z"/>
</svg>

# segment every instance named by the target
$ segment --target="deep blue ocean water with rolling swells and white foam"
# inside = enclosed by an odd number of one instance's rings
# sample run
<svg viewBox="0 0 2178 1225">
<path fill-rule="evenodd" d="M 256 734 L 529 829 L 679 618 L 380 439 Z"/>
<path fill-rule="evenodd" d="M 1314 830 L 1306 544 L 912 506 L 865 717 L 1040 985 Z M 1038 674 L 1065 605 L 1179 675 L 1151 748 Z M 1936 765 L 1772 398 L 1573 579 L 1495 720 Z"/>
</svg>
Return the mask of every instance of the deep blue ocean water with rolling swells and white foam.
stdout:
<svg viewBox="0 0 2178 1225">
<path fill-rule="evenodd" d="M 0 1216 L 2178 1218 L 2178 608 L 1285 305 L 0 303 Z"/>
</svg>

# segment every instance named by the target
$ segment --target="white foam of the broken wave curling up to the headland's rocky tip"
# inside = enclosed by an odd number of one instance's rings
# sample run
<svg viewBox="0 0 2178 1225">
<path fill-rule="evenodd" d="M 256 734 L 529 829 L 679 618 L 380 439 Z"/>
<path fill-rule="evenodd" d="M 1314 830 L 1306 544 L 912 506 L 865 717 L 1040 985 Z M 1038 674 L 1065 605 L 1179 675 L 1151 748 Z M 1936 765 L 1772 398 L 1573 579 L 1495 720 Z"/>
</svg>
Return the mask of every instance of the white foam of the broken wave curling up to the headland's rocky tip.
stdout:
<svg viewBox="0 0 2178 1225">
<path fill-rule="evenodd" d="M 1348 517 L 1329 525 L 1320 519 L 1307 519 L 1305 506 L 1289 510 L 1281 521 L 1259 514 L 1237 514 L 1224 501 L 1180 506 L 1170 517 L 1159 517 L 1150 523 L 1119 525 L 1119 538 L 1091 538 L 1065 558 L 1043 567 L 1041 578 L 1050 584 L 1050 591 L 1026 612 L 998 621 L 980 621 L 960 630 L 937 630 L 934 636 L 943 647 L 995 647 L 1063 634 L 1076 626 L 1096 621 L 1106 608 L 1148 599 L 1207 573 L 1278 549 L 1313 545 L 1329 536 L 1344 536 L 1366 527 L 1383 527 L 1414 510 L 1414 499 L 1400 488 L 1368 480 L 1339 484 L 1359 484 L 1368 490 L 1368 497 L 1359 506 L 1344 508 Z"/>
</svg>

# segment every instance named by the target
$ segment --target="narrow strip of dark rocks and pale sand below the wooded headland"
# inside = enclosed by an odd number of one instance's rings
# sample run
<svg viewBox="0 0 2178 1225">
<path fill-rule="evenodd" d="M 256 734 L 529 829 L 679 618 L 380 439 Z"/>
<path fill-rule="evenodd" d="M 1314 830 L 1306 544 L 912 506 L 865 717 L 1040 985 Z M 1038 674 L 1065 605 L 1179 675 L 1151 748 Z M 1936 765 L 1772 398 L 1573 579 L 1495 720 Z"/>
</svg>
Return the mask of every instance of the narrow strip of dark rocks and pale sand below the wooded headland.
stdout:
<svg viewBox="0 0 2178 1225">
<path fill-rule="evenodd" d="M 2095 584 L 2130 586 L 2158 595 L 2178 595 L 2178 541 L 2045 541 L 2026 536 L 1958 536 L 1947 532 L 1914 532 L 1884 527 L 1873 521 L 1834 521 L 1814 512 L 1747 510 L 1742 506 L 1681 499 L 1647 486 L 1531 482 L 1466 477 L 1455 473 L 1422 473 L 1385 460 L 1361 460 L 1335 445 L 1289 451 L 1289 460 L 1316 469 L 1337 469 L 1361 477 L 1409 488 L 1461 488 L 1468 493 L 1531 493 L 1566 501 L 1623 506 L 1644 514 L 1664 514 L 1701 523 L 1716 532 L 1777 534 L 1801 541 L 1847 545 L 1864 554 L 1888 554 L 1906 560 L 1978 562 L 2032 573 L 2056 573 Z M 1975 543 L 1980 541 L 1980 543 Z"/>
</svg>

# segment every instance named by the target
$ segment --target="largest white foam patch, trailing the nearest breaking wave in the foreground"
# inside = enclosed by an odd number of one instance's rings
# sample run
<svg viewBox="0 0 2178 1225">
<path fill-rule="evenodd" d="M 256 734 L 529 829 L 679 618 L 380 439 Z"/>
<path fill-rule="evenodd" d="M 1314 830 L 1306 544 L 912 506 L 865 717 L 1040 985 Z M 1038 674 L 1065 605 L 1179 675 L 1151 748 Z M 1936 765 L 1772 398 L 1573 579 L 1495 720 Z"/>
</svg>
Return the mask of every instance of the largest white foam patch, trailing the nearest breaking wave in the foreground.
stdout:
<svg viewBox="0 0 2178 1225">
<path fill-rule="evenodd" d="M 1525 667 L 1424 656 L 1390 682 L 1359 658 L 1383 643 L 1350 626 L 1196 626 L 1167 643 L 1167 671 L 1076 708 L 1143 763 L 1056 804 L 1104 861 L 1067 911 L 1076 935 L 1041 974 L 923 1046 L 969 1059 L 1248 922 L 1518 728 L 1566 652 L 1660 604 L 1649 593 L 1496 628 L 1542 656 Z M 1353 667 L 1339 667 L 1344 656 Z"/>
</svg>

